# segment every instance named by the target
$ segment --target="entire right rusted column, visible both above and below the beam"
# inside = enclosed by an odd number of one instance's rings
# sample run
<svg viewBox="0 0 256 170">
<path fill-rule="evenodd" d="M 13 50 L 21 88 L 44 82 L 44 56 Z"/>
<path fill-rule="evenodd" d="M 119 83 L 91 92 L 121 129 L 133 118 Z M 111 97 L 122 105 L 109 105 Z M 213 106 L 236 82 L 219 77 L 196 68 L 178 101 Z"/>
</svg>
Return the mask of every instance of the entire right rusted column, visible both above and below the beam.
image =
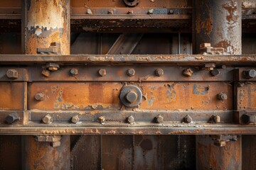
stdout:
<svg viewBox="0 0 256 170">
<path fill-rule="evenodd" d="M 201 43 L 223 47 L 230 55 L 242 52 L 242 1 L 193 1 L 193 53 Z M 209 135 L 196 136 L 197 169 L 242 169 L 241 137 L 225 147 L 213 145 Z"/>
</svg>

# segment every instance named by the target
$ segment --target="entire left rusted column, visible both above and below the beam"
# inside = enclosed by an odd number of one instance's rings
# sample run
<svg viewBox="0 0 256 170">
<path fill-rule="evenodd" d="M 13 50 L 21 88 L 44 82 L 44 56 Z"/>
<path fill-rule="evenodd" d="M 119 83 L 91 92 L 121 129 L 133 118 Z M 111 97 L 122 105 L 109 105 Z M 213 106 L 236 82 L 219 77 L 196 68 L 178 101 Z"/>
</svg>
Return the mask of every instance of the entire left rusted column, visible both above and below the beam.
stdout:
<svg viewBox="0 0 256 170">
<path fill-rule="evenodd" d="M 38 47 L 60 44 L 60 54 L 70 55 L 70 0 L 23 0 L 23 53 L 36 55 Z M 24 137 L 25 169 L 70 169 L 70 136 L 61 138 L 60 147 Z"/>
</svg>

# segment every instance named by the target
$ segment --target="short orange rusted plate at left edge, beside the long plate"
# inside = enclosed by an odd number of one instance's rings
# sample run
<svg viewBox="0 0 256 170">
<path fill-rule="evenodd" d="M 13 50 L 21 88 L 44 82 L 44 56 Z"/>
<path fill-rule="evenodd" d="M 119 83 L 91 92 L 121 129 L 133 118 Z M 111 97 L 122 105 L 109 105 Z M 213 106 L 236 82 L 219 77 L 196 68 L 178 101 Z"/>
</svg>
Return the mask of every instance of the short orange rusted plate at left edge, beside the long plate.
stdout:
<svg viewBox="0 0 256 170">
<path fill-rule="evenodd" d="M 0 110 L 19 110 L 26 108 L 26 83 L 0 83 Z"/>
</svg>

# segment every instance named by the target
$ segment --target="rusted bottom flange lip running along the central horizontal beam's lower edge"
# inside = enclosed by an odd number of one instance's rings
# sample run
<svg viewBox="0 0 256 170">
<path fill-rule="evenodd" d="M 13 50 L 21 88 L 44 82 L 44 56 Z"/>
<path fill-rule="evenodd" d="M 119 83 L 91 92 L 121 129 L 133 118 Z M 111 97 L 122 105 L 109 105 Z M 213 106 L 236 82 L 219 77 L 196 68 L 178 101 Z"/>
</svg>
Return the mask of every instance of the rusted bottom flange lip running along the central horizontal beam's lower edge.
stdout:
<svg viewBox="0 0 256 170">
<path fill-rule="evenodd" d="M 95 124 L 96 125 L 96 124 Z M 99 125 L 99 124 L 97 124 Z M 204 123 L 202 125 L 193 125 L 188 127 L 184 123 L 168 125 L 159 125 L 154 127 L 156 123 L 151 123 L 149 126 L 132 127 L 124 123 L 119 123 L 119 126 L 104 127 L 5 127 L 0 128 L 1 135 L 255 135 L 255 125 L 238 125 L 225 124 L 223 126 L 214 126 Z M 107 125 L 107 124 L 106 124 Z M 114 124 L 116 125 L 116 123 Z M 121 127 L 121 125 L 123 127 Z M 208 125 L 208 126 L 207 126 Z"/>
</svg>

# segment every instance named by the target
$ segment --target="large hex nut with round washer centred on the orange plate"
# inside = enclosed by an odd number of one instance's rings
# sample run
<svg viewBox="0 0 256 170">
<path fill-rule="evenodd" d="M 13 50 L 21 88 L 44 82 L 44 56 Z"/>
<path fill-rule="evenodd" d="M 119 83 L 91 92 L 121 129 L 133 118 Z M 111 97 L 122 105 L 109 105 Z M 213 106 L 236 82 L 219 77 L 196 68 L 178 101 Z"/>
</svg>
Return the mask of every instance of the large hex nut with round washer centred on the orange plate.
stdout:
<svg viewBox="0 0 256 170">
<path fill-rule="evenodd" d="M 119 95 L 120 101 L 124 106 L 133 108 L 142 102 L 142 90 L 138 86 L 124 86 Z"/>
</svg>

